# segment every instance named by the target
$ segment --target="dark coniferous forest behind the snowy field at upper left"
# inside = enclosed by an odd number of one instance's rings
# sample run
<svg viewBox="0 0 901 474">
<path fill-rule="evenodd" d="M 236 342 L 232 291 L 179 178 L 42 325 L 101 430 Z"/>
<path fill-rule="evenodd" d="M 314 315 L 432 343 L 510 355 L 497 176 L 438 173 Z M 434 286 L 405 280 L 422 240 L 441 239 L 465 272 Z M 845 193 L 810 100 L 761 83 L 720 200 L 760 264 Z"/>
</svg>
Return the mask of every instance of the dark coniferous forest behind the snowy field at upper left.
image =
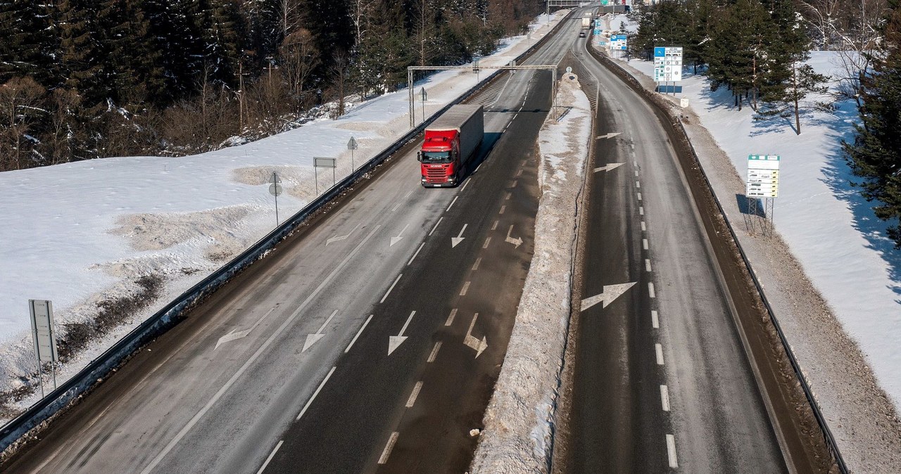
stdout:
<svg viewBox="0 0 901 474">
<path fill-rule="evenodd" d="M 523 31 L 538 0 L 0 0 L 0 171 L 296 127 Z"/>
</svg>

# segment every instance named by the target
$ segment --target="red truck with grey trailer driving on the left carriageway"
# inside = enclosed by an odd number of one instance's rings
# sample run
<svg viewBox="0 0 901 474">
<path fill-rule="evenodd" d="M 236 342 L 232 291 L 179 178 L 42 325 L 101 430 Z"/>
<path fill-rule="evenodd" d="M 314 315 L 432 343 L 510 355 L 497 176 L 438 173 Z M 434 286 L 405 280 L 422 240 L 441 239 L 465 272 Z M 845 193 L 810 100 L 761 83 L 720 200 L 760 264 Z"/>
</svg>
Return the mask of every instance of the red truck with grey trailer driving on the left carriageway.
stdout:
<svg viewBox="0 0 901 474">
<path fill-rule="evenodd" d="M 466 165 L 475 157 L 485 136 L 481 105 L 458 104 L 425 128 L 423 148 L 418 153 L 423 187 L 460 184 Z"/>
</svg>

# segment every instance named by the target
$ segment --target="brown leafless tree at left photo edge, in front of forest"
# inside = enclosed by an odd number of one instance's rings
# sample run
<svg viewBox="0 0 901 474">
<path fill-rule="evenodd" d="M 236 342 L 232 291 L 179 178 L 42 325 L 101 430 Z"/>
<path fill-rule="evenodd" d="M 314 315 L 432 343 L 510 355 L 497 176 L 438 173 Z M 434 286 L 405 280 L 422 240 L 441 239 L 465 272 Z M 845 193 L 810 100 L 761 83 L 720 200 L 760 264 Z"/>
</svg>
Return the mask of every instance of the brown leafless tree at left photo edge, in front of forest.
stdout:
<svg viewBox="0 0 901 474">
<path fill-rule="evenodd" d="M 13 77 L 0 85 L 0 162 L 3 169 L 22 168 L 23 139 L 33 141 L 29 135 L 32 123 L 47 111 L 41 109 L 46 91 L 31 77 Z"/>
</svg>

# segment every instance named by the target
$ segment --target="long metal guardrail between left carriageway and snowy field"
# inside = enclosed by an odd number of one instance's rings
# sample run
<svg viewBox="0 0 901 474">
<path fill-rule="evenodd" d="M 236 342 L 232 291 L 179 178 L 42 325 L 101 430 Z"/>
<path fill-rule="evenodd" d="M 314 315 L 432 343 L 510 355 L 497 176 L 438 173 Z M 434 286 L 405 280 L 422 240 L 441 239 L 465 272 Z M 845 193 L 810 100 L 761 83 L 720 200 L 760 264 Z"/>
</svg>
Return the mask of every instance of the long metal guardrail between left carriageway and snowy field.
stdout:
<svg viewBox="0 0 901 474">
<path fill-rule="evenodd" d="M 542 47 L 553 33 L 560 29 L 563 23 L 564 22 L 562 21 L 558 22 L 558 24 L 555 25 L 551 31 L 548 31 L 541 40 L 536 41 L 535 44 L 529 49 L 526 49 L 523 54 L 517 56 L 515 60 L 518 62 L 531 56 L 535 50 Z M 364 165 L 357 168 L 356 171 L 332 185 L 331 188 L 323 192 L 323 194 L 307 204 L 303 209 L 298 210 L 295 215 L 287 219 L 283 224 L 278 226 L 278 228 L 269 232 L 266 237 L 262 237 L 253 246 L 250 246 L 250 248 L 243 251 L 241 255 L 236 256 L 231 262 L 224 264 L 214 273 L 210 274 L 200 282 L 197 282 L 196 285 L 179 295 L 177 299 L 169 302 L 162 309 L 159 309 L 153 316 L 148 317 L 141 325 L 132 329 L 132 332 L 123 336 L 116 344 L 100 354 L 94 361 L 88 363 L 84 369 L 78 371 L 77 374 L 60 385 L 59 388 L 54 389 L 47 394 L 46 397 L 41 398 L 41 400 L 25 410 L 21 415 L 16 416 L 9 423 L 0 427 L 0 454 L 3 454 L 6 448 L 19 441 L 25 434 L 31 432 L 32 429 L 39 427 L 53 416 L 56 416 L 61 409 L 68 407 L 69 403 L 76 398 L 80 398 L 97 383 L 101 383 L 111 371 L 125 362 L 132 353 L 140 349 L 143 345 L 150 343 L 159 335 L 165 333 L 170 327 L 175 326 L 179 317 L 184 313 L 195 308 L 199 302 L 205 300 L 209 295 L 219 290 L 226 282 L 229 282 L 232 277 L 249 267 L 250 264 L 253 264 L 266 256 L 267 253 L 285 239 L 285 237 L 288 237 L 296 230 L 296 228 L 303 225 L 306 219 L 309 219 L 317 211 L 323 209 L 326 204 L 340 196 L 341 193 L 350 188 L 353 183 L 356 183 L 365 174 L 368 174 L 378 165 L 381 165 L 388 157 L 391 157 L 398 149 L 415 139 L 416 136 L 422 133 L 425 127 L 432 123 L 432 121 L 441 115 L 441 113 L 447 111 L 452 105 L 469 99 L 471 95 L 476 94 L 482 87 L 493 81 L 498 74 L 500 74 L 500 70 L 488 75 L 485 79 L 482 79 L 476 85 L 470 87 L 469 90 L 461 94 L 457 99 L 442 107 L 440 111 L 433 113 L 428 120 L 420 123 L 419 126 L 407 132 L 400 139 L 397 139 L 393 144 L 378 153 L 378 155 L 372 157 Z"/>
</svg>

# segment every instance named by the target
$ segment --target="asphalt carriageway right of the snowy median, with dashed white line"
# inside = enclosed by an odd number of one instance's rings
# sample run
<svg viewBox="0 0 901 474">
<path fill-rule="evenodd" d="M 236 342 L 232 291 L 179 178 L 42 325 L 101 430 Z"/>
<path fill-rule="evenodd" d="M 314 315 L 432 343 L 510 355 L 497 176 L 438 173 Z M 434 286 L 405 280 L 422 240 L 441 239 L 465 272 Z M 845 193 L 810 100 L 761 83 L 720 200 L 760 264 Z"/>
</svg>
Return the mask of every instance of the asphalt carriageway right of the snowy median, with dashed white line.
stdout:
<svg viewBox="0 0 901 474">
<path fill-rule="evenodd" d="M 651 108 L 598 80 L 568 472 L 787 471 L 695 203 Z M 584 74 L 584 73 L 583 73 Z M 629 284 L 617 291 L 613 285 Z"/>
</svg>

